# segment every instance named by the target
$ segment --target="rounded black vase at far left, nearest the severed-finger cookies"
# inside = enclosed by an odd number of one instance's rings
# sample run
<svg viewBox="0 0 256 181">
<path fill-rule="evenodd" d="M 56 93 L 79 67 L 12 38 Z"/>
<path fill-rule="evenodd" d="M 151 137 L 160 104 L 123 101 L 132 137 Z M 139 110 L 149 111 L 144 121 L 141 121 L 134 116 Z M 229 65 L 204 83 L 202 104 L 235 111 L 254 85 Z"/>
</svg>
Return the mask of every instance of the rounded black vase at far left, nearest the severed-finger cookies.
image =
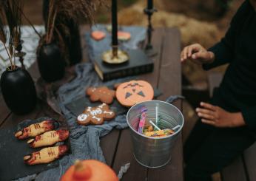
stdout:
<svg viewBox="0 0 256 181">
<path fill-rule="evenodd" d="M 23 115 L 35 108 L 36 88 L 27 70 L 18 66 L 14 70 L 5 70 L 0 85 L 5 103 L 15 114 Z"/>
</svg>

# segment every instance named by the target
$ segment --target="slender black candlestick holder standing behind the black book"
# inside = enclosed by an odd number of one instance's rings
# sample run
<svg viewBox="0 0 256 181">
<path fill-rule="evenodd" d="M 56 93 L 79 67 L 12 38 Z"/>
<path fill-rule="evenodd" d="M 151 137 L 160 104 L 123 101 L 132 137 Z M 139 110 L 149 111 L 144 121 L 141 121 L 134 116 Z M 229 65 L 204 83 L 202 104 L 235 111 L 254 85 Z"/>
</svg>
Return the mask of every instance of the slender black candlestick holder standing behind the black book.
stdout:
<svg viewBox="0 0 256 181">
<path fill-rule="evenodd" d="M 155 49 L 153 48 L 152 44 L 151 44 L 151 40 L 152 40 L 152 32 L 154 31 L 153 27 L 152 27 L 152 23 L 151 23 L 151 16 L 153 15 L 153 13 L 157 12 L 158 10 L 156 10 L 155 8 L 153 9 L 144 9 L 144 13 L 148 16 L 148 27 L 147 27 L 147 42 L 146 42 L 146 46 L 145 46 L 145 52 L 146 55 L 148 56 L 155 56 L 158 54 L 158 52 L 155 51 Z"/>
</svg>

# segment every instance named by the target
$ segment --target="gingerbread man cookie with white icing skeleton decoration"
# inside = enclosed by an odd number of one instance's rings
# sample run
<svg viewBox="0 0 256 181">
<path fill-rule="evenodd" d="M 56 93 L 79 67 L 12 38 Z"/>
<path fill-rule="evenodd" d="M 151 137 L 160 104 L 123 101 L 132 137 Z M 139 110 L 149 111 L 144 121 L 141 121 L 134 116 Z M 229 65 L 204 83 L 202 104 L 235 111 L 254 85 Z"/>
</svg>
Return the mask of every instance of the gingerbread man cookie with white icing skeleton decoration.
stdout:
<svg viewBox="0 0 256 181">
<path fill-rule="evenodd" d="M 110 107 L 106 103 L 102 103 L 96 107 L 87 107 L 85 111 L 78 115 L 78 124 L 88 125 L 88 124 L 103 124 L 104 120 L 111 120 L 115 117 L 115 112 L 110 110 Z"/>
</svg>

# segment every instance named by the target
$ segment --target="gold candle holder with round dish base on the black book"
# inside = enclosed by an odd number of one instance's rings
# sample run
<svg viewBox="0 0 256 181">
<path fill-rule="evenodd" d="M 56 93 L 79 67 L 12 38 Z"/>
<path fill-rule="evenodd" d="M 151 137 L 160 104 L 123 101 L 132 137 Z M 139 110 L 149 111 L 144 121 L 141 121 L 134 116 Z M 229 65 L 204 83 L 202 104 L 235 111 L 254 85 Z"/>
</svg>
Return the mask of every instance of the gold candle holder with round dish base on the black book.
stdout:
<svg viewBox="0 0 256 181">
<path fill-rule="evenodd" d="M 112 46 L 112 49 L 103 53 L 102 60 L 107 64 L 122 64 L 129 60 L 129 55 L 118 49 L 118 46 Z"/>
</svg>

